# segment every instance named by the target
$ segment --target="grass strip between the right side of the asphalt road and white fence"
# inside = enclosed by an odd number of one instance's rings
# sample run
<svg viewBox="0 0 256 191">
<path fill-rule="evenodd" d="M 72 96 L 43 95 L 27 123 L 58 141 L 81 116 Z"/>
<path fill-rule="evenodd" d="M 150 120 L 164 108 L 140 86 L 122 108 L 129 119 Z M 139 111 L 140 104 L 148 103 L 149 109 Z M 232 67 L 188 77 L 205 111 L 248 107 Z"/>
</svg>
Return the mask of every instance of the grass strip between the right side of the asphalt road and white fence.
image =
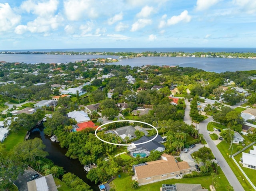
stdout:
<svg viewBox="0 0 256 191">
<path fill-rule="evenodd" d="M 233 153 L 237 152 L 237 147 L 240 144 L 233 144 L 234 148 L 233 148 Z M 246 178 L 244 177 L 244 175 L 242 174 L 242 172 L 239 170 L 239 168 L 236 166 L 236 164 L 234 163 L 234 161 L 232 160 L 232 158 L 228 158 L 228 155 L 231 154 L 231 150 L 228 150 L 229 148 L 229 144 L 226 143 L 225 141 L 220 142 L 220 144 L 217 145 L 217 148 L 220 150 L 221 154 L 224 156 L 224 158 L 226 159 L 228 165 L 230 166 L 230 168 L 232 169 L 232 171 L 234 172 L 234 174 L 236 175 L 238 181 L 241 183 L 242 187 L 244 187 L 244 189 L 247 190 L 254 190 L 252 188 L 252 186 L 249 184 L 249 182 L 246 180 Z M 228 155 L 227 155 L 228 154 Z M 244 179 L 244 180 L 243 180 Z"/>
</svg>

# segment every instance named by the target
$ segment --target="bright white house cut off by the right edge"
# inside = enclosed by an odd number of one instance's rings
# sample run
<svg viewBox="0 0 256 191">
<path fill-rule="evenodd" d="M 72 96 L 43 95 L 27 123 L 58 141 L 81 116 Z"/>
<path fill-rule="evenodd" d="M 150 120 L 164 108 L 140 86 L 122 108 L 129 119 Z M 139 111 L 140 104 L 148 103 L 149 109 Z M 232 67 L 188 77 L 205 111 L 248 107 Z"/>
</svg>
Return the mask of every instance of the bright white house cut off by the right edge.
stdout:
<svg viewBox="0 0 256 191">
<path fill-rule="evenodd" d="M 256 169 L 256 146 L 253 146 L 253 150 L 250 150 L 249 153 L 242 152 L 241 163 L 243 167 Z"/>
</svg>

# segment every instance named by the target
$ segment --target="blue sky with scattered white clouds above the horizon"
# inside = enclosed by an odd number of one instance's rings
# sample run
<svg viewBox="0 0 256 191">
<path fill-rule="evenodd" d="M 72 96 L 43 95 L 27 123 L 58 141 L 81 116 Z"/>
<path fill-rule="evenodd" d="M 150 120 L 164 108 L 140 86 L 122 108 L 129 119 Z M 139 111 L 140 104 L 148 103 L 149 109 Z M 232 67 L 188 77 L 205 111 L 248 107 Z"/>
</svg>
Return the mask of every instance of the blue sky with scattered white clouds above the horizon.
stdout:
<svg viewBox="0 0 256 191">
<path fill-rule="evenodd" d="M 0 50 L 255 44 L 256 0 L 0 0 Z"/>
</svg>

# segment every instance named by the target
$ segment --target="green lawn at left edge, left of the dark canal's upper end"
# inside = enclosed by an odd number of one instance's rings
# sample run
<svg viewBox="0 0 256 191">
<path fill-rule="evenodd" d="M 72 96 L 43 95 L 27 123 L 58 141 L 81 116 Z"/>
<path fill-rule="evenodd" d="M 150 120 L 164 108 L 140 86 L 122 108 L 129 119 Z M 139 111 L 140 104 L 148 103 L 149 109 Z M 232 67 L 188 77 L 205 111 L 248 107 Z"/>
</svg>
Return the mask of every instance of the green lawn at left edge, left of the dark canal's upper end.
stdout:
<svg viewBox="0 0 256 191">
<path fill-rule="evenodd" d="M 27 130 L 24 128 L 20 129 L 18 132 L 10 132 L 10 134 L 4 140 L 4 143 L 2 143 L 6 147 L 6 150 L 10 151 L 15 145 L 24 141 L 26 132 Z"/>
</svg>

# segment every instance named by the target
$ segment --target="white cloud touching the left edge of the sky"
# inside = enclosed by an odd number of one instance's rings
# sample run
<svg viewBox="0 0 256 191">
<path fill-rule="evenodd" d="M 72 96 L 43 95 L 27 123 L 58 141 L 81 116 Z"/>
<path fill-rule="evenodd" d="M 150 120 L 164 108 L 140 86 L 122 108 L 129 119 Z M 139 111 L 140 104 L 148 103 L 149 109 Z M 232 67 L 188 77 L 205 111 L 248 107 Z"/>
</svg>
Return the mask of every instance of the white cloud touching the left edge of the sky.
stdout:
<svg viewBox="0 0 256 191">
<path fill-rule="evenodd" d="M 8 3 L 0 3 L 0 32 L 12 29 L 20 19 L 21 16 L 15 14 Z"/>
</svg>

